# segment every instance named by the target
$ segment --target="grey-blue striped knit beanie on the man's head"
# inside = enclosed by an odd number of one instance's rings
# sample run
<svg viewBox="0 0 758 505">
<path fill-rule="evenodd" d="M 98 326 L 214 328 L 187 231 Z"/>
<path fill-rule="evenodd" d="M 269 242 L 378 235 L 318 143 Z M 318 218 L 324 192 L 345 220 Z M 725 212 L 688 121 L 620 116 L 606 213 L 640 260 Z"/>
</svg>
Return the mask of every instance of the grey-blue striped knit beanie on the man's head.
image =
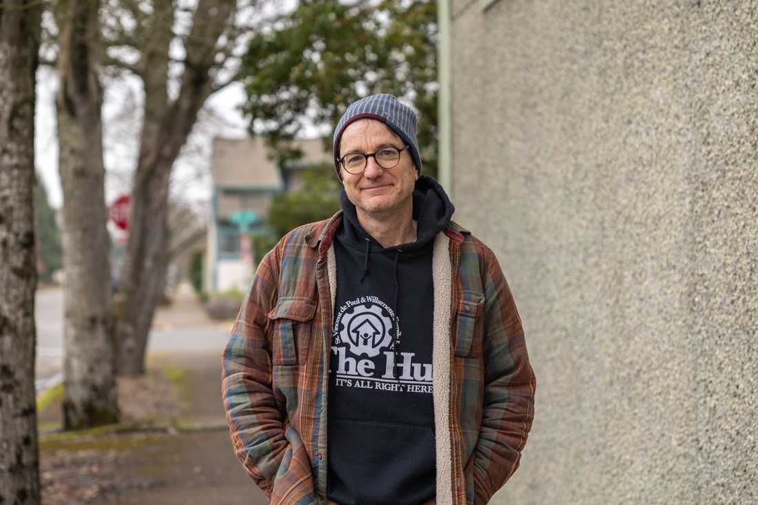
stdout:
<svg viewBox="0 0 758 505">
<path fill-rule="evenodd" d="M 416 114 L 412 108 L 402 105 L 394 96 L 381 94 L 366 96 L 352 102 L 334 128 L 334 169 L 337 170 L 337 177 L 340 177 L 340 163 L 337 161 L 340 158 L 340 138 L 349 124 L 364 118 L 381 121 L 408 144 L 416 170 L 421 174 L 421 156 L 418 154 L 416 140 Z"/>
</svg>

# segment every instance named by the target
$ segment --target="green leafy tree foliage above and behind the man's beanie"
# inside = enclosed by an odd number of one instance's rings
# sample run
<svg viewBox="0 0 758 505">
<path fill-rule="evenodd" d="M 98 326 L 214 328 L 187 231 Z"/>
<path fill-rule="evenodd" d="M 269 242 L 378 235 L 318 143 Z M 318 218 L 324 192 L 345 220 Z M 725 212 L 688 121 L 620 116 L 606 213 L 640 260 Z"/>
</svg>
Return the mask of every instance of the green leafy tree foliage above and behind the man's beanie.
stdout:
<svg viewBox="0 0 758 505">
<path fill-rule="evenodd" d="M 424 173 L 436 175 L 436 15 L 433 0 L 302 0 L 249 42 L 250 130 L 282 149 L 305 124 L 334 127 L 356 99 L 391 93 L 418 110 Z"/>
</svg>

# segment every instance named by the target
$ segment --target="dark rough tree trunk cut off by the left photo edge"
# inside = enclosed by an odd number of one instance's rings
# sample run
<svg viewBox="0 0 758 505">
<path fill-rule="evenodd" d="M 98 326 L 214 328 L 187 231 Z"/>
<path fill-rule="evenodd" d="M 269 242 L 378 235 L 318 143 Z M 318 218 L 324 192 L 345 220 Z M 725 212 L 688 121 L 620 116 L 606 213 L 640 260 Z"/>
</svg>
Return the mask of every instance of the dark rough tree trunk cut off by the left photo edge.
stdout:
<svg viewBox="0 0 758 505">
<path fill-rule="evenodd" d="M 40 503 L 34 391 L 38 2 L 0 0 L 0 503 Z"/>
</svg>

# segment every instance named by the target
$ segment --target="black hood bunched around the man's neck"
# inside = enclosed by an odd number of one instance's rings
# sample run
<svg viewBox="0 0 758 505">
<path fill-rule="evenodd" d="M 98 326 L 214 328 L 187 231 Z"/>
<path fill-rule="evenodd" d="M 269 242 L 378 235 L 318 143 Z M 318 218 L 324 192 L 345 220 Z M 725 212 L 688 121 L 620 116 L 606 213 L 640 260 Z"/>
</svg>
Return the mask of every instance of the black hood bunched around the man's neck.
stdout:
<svg viewBox="0 0 758 505">
<path fill-rule="evenodd" d="M 434 237 L 437 237 L 440 231 L 449 225 L 450 218 L 453 217 L 456 209 L 442 186 L 428 175 L 418 177 L 412 199 L 413 219 L 418 222 L 415 242 L 385 248 L 363 229 L 358 221 L 356 205 L 348 199 L 343 188 L 340 193 L 340 202 L 345 219 L 342 230 L 338 232 L 340 241 L 346 246 L 364 250 L 368 240 L 369 252 L 395 252 L 398 249 L 402 250 L 403 254 L 421 252 L 422 249 L 426 249 L 425 246 L 434 242 Z"/>
</svg>

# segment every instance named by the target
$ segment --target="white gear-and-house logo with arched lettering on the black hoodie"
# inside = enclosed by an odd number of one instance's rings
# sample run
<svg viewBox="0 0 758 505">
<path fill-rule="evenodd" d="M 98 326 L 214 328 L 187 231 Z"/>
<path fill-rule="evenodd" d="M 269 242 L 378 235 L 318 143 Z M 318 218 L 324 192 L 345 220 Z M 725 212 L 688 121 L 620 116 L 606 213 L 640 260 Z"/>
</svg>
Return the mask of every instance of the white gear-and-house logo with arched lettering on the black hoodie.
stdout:
<svg viewBox="0 0 758 505">
<path fill-rule="evenodd" d="M 392 309 L 377 296 L 350 300 L 335 318 L 334 344 L 347 344 L 356 356 L 377 356 L 381 350 L 393 348 L 395 321 Z"/>
</svg>

